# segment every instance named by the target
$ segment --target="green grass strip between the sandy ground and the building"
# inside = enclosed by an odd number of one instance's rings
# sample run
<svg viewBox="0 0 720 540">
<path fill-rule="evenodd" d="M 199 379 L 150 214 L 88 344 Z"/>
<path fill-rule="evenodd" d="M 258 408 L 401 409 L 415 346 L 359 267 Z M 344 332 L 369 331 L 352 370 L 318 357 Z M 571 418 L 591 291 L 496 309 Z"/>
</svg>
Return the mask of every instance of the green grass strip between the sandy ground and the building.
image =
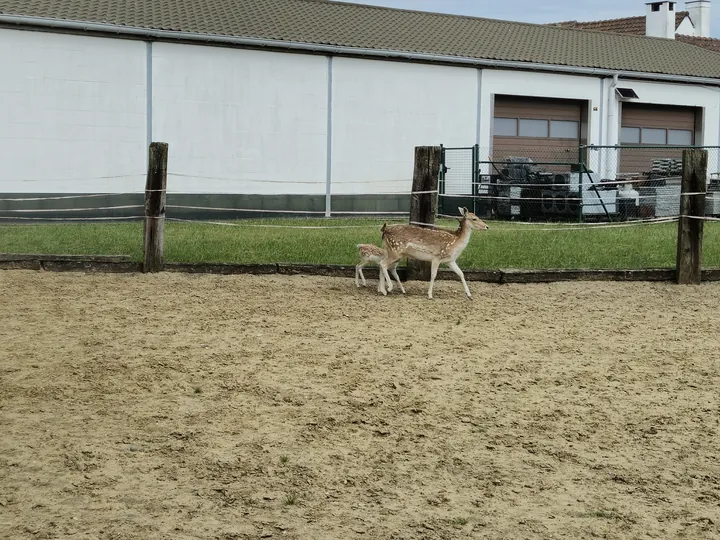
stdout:
<svg viewBox="0 0 720 540">
<path fill-rule="evenodd" d="M 166 224 L 169 262 L 355 264 L 358 243 L 380 244 L 376 219 L 245 220 L 228 227 Z M 454 227 L 457 222 L 443 221 Z M 289 229 L 259 225 L 341 226 Z M 473 233 L 458 264 L 465 269 L 674 267 L 677 224 L 565 229 L 563 225 L 489 222 Z M 64 223 L 0 226 L 0 252 L 128 255 L 142 258 L 141 223 Z M 720 267 L 720 223 L 706 223 L 703 264 Z"/>
</svg>

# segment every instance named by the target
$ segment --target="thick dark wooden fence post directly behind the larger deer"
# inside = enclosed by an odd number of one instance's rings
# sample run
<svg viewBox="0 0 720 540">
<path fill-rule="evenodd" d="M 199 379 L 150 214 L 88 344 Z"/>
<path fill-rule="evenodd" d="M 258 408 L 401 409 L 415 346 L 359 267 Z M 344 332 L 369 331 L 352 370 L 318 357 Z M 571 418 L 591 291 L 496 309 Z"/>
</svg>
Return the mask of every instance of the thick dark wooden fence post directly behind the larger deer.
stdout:
<svg viewBox="0 0 720 540">
<path fill-rule="evenodd" d="M 440 146 L 416 146 L 415 169 L 413 172 L 412 192 L 410 195 L 410 223 L 435 223 L 438 201 L 438 178 L 442 148 Z M 433 193 L 418 193 L 430 191 Z M 426 225 L 421 225 L 426 226 Z M 430 263 L 408 260 L 408 279 L 430 280 Z"/>
</svg>

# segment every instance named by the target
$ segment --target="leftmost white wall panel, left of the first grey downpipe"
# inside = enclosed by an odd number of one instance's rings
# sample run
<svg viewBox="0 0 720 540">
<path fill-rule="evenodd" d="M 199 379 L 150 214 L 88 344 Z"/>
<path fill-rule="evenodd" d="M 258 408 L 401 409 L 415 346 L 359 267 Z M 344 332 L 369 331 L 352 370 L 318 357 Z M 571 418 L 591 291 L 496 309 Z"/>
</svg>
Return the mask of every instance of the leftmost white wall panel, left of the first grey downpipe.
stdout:
<svg viewBox="0 0 720 540">
<path fill-rule="evenodd" d="M 0 192 L 145 188 L 144 43 L 0 29 L 0 70 Z"/>
</svg>

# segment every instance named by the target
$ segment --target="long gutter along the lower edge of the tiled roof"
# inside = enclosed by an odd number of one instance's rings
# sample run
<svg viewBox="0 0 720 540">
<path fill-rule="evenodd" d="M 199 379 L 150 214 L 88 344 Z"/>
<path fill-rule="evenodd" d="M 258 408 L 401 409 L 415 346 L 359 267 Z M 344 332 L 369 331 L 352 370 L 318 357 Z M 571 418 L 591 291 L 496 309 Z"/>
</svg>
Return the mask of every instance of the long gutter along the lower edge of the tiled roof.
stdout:
<svg viewBox="0 0 720 540">
<path fill-rule="evenodd" d="M 144 27 L 114 25 L 108 23 L 93 23 L 42 17 L 26 17 L 20 15 L 0 14 L 0 25 L 2 24 L 27 28 L 49 28 L 56 30 L 97 32 L 101 34 L 115 36 L 127 36 L 135 39 L 149 39 L 160 41 L 189 41 L 205 44 L 217 43 L 223 45 L 239 45 L 276 50 L 308 51 L 338 56 L 346 55 L 367 56 L 374 58 L 393 58 L 400 60 L 415 60 L 427 63 L 461 64 L 476 67 L 523 69 L 529 71 L 546 71 L 554 73 L 559 72 L 576 75 L 594 75 L 608 77 L 613 75 L 619 75 L 622 77 L 629 77 L 634 79 L 650 79 L 667 82 L 720 86 L 720 78 L 716 79 L 712 77 L 695 77 L 691 75 L 674 75 L 668 73 L 639 72 L 560 64 L 541 64 L 517 60 L 495 60 L 490 58 L 472 58 L 463 56 L 439 55 L 432 53 L 414 53 L 410 51 L 369 49 L 361 47 L 348 47 L 342 45 L 326 45 L 310 42 L 281 41 L 264 38 L 223 36 L 217 34 L 202 34 L 196 32 L 183 32 L 176 30 L 159 30 Z"/>
</svg>

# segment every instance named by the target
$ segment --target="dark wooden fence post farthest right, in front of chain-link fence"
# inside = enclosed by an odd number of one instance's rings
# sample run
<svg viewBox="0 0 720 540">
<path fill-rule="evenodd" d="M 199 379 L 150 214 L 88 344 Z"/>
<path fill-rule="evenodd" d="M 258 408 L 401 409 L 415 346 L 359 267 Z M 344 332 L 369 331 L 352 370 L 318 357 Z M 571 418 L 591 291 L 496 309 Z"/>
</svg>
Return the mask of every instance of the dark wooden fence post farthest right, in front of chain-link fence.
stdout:
<svg viewBox="0 0 720 540">
<path fill-rule="evenodd" d="M 707 150 L 683 150 L 682 184 L 676 280 L 681 285 L 697 285 L 702 280 L 702 236 L 707 191 Z"/>
</svg>

